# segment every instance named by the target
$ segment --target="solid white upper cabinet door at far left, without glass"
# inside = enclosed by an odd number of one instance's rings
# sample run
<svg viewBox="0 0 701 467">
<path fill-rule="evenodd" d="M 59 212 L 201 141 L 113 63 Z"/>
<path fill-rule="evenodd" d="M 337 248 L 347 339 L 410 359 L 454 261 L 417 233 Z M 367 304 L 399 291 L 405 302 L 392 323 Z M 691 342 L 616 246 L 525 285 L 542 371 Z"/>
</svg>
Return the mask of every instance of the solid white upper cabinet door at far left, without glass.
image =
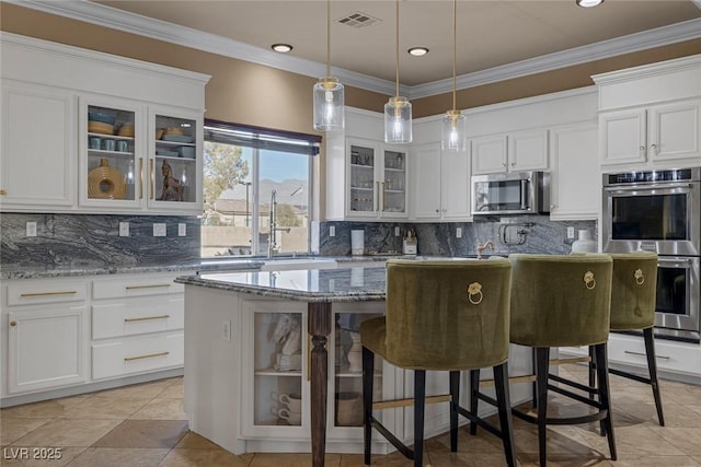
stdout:
<svg viewBox="0 0 701 467">
<path fill-rule="evenodd" d="M 0 203 L 66 209 L 76 201 L 76 95 L 2 80 Z"/>
</svg>

